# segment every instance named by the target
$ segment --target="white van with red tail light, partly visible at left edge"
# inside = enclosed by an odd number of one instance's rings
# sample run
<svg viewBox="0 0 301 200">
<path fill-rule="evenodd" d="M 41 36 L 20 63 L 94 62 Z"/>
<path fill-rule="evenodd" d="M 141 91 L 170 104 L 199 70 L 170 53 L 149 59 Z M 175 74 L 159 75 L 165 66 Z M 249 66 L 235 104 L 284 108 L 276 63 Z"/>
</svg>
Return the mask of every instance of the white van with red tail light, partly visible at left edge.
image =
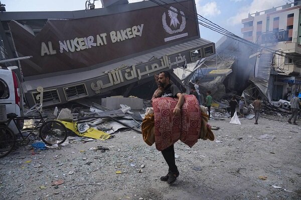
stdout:
<svg viewBox="0 0 301 200">
<path fill-rule="evenodd" d="M 14 70 L 19 71 L 19 68 L 17 66 L 0 67 L 0 124 L 4 123 L 8 113 L 23 116 L 23 92 Z M 21 129 L 23 128 L 23 121 L 17 121 Z M 14 123 L 11 123 L 10 127 L 15 133 L 18 132 Z"/>
</svg>

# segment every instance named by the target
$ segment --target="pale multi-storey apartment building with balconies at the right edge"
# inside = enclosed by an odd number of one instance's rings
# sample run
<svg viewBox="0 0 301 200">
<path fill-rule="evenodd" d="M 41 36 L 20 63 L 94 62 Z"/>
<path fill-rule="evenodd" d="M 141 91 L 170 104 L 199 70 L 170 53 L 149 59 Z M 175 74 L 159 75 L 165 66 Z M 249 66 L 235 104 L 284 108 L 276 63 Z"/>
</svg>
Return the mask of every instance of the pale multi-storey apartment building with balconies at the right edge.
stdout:
<svg viewBox="0 0 301 200">
<path fill-rule="evenodd" d="M 241 20 L 243 38 L 261 46 L 284 52 L 270 54 L 268 74 L 270 99 L 279 100 L 287 91 L 300 91 L 301 84 L 301 0 L 251 13 Z M 258 55 L 264 54 L 261 51 Z M 260 56 L 258 56 L 260 57 Z M 266 57 L 266 56 L 265 56 Z"/>
</svg>

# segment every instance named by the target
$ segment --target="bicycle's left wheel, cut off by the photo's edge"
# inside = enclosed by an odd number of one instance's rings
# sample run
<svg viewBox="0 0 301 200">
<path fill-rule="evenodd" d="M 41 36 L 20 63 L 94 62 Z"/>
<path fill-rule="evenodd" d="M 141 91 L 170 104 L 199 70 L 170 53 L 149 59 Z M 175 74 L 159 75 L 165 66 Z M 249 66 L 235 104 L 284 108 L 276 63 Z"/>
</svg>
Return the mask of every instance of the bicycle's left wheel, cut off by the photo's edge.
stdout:
<svg viewBox="0 0 301 200">
<path fill-rule="evenodd" d="M 16 145 L 16 135 L 5 125 L 0 125 L 0 157 L 9 154 Z"/>
</svg>

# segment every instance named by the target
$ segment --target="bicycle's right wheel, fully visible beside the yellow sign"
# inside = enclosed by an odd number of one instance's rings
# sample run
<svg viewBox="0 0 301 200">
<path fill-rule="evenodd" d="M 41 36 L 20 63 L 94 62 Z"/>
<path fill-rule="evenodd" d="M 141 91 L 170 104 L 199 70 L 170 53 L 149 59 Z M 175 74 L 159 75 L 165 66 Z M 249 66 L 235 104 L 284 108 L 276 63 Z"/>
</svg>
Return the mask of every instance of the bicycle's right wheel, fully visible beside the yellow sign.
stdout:
<svg viewBox="0 0 301 200">
<path fill-rule="evenodd" d="M 60 144 L 67 138 L 67 128 L 60 121 L 49 120 L 42 124 L 39 134 L 47 144 Z"/>
</svg>

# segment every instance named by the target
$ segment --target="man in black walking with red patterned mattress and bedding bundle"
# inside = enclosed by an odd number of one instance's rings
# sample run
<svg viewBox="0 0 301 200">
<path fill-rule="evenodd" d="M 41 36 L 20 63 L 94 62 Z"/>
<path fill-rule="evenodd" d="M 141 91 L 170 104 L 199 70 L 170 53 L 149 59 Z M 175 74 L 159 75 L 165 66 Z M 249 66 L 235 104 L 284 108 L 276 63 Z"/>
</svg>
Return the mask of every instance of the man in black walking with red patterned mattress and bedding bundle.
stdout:
<svg viewBox="0 0 301 200">
<path fill-rule="evenodd" d="M 208 115 L 202 111 L 195 95 L 183 95 L 170 81 L 170 73 L 155 75 L 158 89 L 152 98 L 153 107 L 147 108 L 141 124 L 142 137 L 147 145 L 156 143 L 162 152 L 169 172 L 162 181 L 172 184 L 179 176 L 175 161 L 174 143 L 181 140 L 192 147 L 198 139 L 214 140 Z"/>
</svg>

